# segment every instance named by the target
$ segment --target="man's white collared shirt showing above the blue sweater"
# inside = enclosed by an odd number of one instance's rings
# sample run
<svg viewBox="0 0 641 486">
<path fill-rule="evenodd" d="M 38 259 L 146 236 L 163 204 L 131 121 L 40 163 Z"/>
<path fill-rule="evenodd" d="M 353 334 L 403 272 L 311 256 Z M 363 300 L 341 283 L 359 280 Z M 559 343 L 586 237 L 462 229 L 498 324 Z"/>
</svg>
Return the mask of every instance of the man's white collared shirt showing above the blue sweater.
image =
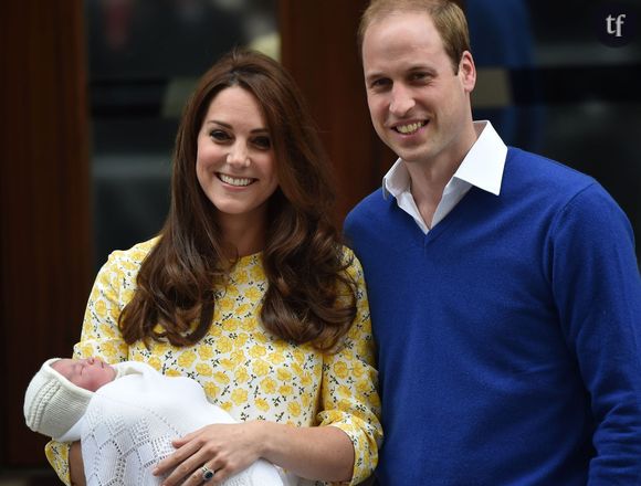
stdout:
<svg viewBox="0 0 641 486">
<path fill-rule="evenodd" d="M 481 135 L 445 184 L 431 224 L 427 224 L 419 212 L 410 190 L 410 175 L 401 159 L 382 178 L 383 198 L 393 196 L 398 207 L 411 215 L 425 234 L 454 209 L 472 186 L 496 196 L 501 192 L 507 146 L 490 122 L 474 122 L 474 127 Z"/>
</svg>

